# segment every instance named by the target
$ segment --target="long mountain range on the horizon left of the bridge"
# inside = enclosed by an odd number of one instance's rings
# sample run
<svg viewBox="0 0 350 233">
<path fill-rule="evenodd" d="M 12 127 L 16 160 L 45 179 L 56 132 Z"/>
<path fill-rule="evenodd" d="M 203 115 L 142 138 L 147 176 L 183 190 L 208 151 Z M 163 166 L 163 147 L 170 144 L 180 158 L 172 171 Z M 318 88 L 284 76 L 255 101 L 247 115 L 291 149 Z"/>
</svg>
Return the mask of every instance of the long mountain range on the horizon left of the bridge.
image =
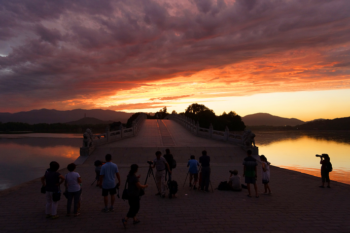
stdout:
<svg viewBox="0 0 350 233">
<path fill-rule="evenodd" d="M 113 121 L 126 123 L 133 113 L 102 110 L 102 109 L 74 109 L 59 111 L 55 109 L 40 109 L 31 111 L 21 111 L 16 113 L 0 112 L 0 122 L 23 122 L 28 124 L 39 123 L 64 123 L 77 121 L 84 118 L 84 115 L 89 118 L 96 118 L 102 121 Z"/>
</svg>

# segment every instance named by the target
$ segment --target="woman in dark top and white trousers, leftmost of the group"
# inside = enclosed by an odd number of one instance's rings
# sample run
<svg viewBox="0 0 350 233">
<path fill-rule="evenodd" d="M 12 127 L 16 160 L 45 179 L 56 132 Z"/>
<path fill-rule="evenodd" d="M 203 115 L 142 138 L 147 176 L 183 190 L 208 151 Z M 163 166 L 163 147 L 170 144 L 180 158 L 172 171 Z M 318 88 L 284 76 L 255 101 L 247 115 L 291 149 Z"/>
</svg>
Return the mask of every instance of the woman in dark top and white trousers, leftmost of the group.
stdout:
<svg viewBox="0 0 350 233">
<path fill-rule="evenodd" d="M 64 176 L 58 173 L 59 164 L 56 161 L 50 163 L 50 168 L 46 170 L 41 178 L 46 190 L 46 218 L 56 219 L 58 202 L 52 200 L 53 193 L 59 191 L 59 185 L 63 183 Z"/>
</svg>

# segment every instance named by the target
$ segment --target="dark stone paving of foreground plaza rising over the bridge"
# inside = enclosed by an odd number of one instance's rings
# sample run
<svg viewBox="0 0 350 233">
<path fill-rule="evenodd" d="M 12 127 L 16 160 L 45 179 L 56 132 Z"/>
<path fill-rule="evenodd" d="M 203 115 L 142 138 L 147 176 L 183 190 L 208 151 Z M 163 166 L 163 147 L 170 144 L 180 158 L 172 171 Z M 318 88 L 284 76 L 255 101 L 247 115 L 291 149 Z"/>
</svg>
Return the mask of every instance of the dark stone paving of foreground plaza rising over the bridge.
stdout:
<svg viewBox="0 0 350 233">
<path fill-rule="evenodd" d="M 126 215 L 128 203 L 117 199 L 115 212 L 100 211 L 101 189 L 91 185 L 95 176 L 93 162 L 111 152 L 113 162 L 119 167 L 122 186 L 132 163 L 141 166 L 138 173 L 143 183 L 148 171 L 146 161 L 154 159 L 156 150 L 165 151 L 165 148 L 170 148 L 178 162 L 173 170 L 173 179 L 179 183 L 178 197 L 154 196 L 155 182 L 149 178 L 150 186 L 137 215 L 141 223 L 134 226 L 129 222 L 124 229 L 120 219 Z M 228 180 L 229 170 L 237 169 L 242 174 L 245 153 L 239 147 L 195 137 L 172 121 L 147 120 L 136 137 L 96 148 L 77 167 L 83 180 L 81 216 L 66 217 L 66 202 L 62 197 L 58 206 L 60 217 L 46 219 L 45 195 L 40 193 L 41 183 L 37 179 L 12 191 L 0 192 L 0 232 L 350 232 L 350 185 L 347 184 L 332 182 L 332 188 L 319 188 L 318 177 L 271 167 L 273 193 L 269 196 L 249 198 L 247 190 L 203 193 L 190 190 L 188 179 L 183 187 L 190 154 L 198 158 L 203 149 L 211 156 L 213 188 Z M 263 190 L 260 168 L 258 188 L 260 193 Z"/>
</svg>

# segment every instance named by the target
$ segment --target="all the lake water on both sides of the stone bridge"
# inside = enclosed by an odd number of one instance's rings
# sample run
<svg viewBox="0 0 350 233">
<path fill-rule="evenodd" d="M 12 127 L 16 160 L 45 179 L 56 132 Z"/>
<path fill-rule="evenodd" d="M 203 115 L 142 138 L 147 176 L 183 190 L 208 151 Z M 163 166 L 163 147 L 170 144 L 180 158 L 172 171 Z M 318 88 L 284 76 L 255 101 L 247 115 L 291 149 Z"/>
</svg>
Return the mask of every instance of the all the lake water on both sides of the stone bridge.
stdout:
<svg viewBox="0 0 350 233">
<path fill-rule="evenodd" d="M 315 154 L 328 153 L 331 180 L 350 184 L 350 132 L 254 133 L 259 154 L 272 165 L 320 177 Z M 82 134 L 0 134 L 0 190 L 43 176 L 51 161 L 66 167 L 79 157 L 81 145 Z"/>
</svg>

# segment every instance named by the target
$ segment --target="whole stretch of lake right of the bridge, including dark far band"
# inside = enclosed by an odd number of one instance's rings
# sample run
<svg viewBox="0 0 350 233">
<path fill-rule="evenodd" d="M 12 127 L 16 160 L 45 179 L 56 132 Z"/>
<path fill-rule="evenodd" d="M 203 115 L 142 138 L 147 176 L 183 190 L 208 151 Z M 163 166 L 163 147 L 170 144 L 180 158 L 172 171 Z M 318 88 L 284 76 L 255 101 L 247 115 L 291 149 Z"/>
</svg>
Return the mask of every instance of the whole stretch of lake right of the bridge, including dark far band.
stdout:
<svg viewBox="0 0 350 233">
<path fill-rule="evenodd" d="M 274 166 L 321 177 L 320 158 L 328 153 L 331 180 L 350 184 L 350 132 L 255 132 L 259 154 Z"/>
</svg>

